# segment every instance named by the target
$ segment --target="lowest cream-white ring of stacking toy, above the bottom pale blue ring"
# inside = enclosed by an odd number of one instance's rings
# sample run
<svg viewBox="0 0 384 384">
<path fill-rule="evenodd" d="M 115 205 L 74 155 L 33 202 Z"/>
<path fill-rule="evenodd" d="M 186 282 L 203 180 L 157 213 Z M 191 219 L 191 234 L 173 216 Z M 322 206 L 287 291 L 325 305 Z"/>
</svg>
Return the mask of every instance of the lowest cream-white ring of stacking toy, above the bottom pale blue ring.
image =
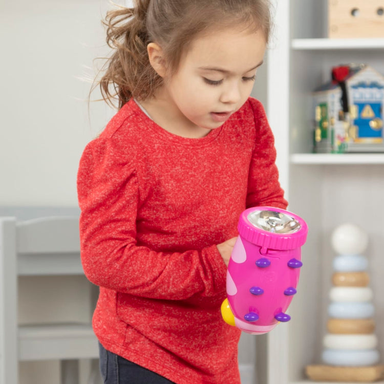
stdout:
<svg viewBox="0 0 384 384">
<path fill-rule="evenodd" d="M 328 333 L 323 338 L 323 346 L 344 350 L 374 349 L 377 347 L 377 336 L 374 333 L 360 335 Z"/>
</svg>

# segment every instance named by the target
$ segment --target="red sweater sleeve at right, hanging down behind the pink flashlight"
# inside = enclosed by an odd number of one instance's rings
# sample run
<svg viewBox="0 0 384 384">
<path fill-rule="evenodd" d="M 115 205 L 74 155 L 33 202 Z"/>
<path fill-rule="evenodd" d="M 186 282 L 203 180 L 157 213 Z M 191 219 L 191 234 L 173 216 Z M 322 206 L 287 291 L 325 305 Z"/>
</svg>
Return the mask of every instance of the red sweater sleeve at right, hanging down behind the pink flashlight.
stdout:
<svg viewBox="0 0 384 384">
<path fill-rule="evenodd" d="M 279 183 L 276 167 L 276 150 L 263 105 L 250 99 L 256 127 L 255 146 L 249 167 L 247 208 L 252 206 L 273 206 L 285 209 L 284 190 Z"/>
</svg>

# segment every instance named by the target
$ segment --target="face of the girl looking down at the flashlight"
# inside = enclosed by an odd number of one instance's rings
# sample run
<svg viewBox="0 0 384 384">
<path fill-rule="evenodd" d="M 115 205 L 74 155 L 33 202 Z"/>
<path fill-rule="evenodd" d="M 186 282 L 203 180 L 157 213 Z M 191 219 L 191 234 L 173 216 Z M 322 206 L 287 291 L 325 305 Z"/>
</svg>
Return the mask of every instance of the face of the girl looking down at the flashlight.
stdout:
<svg viewBox="0 0 384 384">
<path fill-rule="evenodd" d="M 265 49 L 260 30 L 226 30 L 197 38 L 177 73 L 164 79 L 168 102 L 189 124 L 207 130 L 221 126 L 249 97 Z"/>
</svg>

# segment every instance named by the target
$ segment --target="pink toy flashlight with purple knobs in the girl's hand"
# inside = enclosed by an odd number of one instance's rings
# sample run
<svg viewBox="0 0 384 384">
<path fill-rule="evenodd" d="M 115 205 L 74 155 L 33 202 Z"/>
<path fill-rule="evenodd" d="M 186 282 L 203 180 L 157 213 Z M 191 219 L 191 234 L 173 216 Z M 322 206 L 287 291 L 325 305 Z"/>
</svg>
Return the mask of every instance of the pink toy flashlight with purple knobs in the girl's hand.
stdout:
<svg viewBox="0 0 384 384">
<path fill-rule="evenodd" d="M 222 316 L 244 332 L 266 333 L 290 320 L 286 310 L 296 293 L 308 227 L 287 210 L 253 207 L 240 216 L 238 230 Z"/>
</svg>

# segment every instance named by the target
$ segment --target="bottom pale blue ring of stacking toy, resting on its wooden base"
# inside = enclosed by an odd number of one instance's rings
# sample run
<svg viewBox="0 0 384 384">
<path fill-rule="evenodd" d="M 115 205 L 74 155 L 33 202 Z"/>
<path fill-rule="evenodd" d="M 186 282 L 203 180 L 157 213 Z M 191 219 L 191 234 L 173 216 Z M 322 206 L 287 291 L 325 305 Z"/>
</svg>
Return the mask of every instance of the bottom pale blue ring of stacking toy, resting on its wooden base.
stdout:
<svg viewBox="0 0 384 384">
<path fill-rule="evenodd" d="M 326 364 L 333 366 L 361 367 L 376 364 L 380 359 L 380 355 L 375 349 L 361 351 L 325 349 L 322 358 Z"/>
</svg>

